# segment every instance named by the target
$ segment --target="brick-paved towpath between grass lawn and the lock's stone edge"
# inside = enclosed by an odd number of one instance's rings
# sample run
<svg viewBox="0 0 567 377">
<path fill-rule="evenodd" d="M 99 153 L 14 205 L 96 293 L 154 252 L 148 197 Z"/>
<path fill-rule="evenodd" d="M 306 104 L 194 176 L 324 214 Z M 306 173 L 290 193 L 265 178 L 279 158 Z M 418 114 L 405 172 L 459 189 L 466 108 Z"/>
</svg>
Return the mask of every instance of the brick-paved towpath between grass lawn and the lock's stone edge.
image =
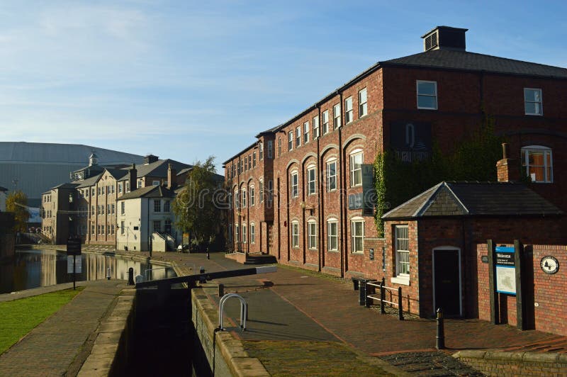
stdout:
<svg viewBox="0 0 567 377">
<path fill-rule="evenodd" d="M 0 355 L 0 376 L 72 376 L 88 356 L 99 326 L 123 281 L 89 281 L 82 293 Z M 52 287 L 51 287 L 52 288 Z M 74 372 L 74 373 L 73 373 Z"/>
</svg>

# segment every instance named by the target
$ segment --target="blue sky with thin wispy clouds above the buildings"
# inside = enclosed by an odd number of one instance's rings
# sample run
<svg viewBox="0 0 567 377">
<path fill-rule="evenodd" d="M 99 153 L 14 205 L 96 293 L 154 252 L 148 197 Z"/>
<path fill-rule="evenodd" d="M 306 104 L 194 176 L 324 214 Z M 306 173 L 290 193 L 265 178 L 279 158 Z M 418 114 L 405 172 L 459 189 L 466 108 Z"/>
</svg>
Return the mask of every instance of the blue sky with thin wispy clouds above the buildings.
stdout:
<svg viewBox="0 0 567 377">
<path fill-rule="evenodd" d="M 567 67 L 567 2 L 2 1 L 0 141 L 220 164 L 437 25 Z M 223 171 L 219 171 L 223 174 Z"/>
</svg>

